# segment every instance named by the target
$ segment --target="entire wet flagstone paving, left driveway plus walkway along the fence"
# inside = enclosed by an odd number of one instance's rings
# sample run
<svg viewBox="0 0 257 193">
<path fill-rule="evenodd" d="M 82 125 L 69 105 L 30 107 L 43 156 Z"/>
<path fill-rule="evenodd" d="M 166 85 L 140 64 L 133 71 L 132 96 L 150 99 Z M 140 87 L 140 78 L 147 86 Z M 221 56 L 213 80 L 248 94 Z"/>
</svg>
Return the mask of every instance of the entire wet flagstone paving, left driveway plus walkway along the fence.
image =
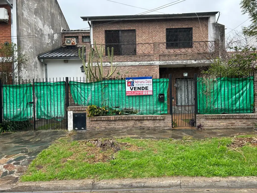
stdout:
<svg viewBox="0 0 257 193">
<path fill-rule="evenodd" d="M 0 135 L 0 186 L 14 184 L 27 170 L 27 166 L 45 148 L 56 139 L 67 136 L 70 132 L 60 130 L 24 131 Z M 236 134 L 257 134 L 256 129 L 128 129 L 107 131 L 77 131 L 71 135 L 73 140 L 92 138 L 131 137 L 139 139 L 182 139 L 184 136 L 194 138 L 225 137 Z"/>
</svg>

